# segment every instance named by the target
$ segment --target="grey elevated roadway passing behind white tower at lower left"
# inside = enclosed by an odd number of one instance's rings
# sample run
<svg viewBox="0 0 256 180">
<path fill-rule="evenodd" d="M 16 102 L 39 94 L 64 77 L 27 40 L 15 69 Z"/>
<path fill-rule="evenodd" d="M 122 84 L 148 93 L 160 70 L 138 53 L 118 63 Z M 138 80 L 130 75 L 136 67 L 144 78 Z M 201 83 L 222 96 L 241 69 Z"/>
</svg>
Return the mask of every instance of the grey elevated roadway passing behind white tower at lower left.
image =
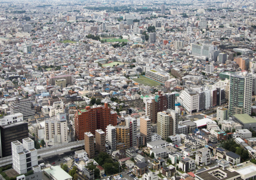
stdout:
<svg viewBox="0 0 256 180">
<path fill-rule="evenodd" d="M 63 152 L 68 152 L 71 150 L 78 149 L 80 147 L 83 147 L 85 145 L 84 140 L 74 141 L 74 142 L 68 142 L 68 143 L 61 143 L 54 146 L 48 146 L 44 148 L 37 149 L 37 156 L 40 158 L 43 157 L 49 157 L 52 155 L 56 155 Z M 0 167 L 9 165 L 13 163 L 12 156 L 2 157 L 0 158 Z"/>
</svg>

